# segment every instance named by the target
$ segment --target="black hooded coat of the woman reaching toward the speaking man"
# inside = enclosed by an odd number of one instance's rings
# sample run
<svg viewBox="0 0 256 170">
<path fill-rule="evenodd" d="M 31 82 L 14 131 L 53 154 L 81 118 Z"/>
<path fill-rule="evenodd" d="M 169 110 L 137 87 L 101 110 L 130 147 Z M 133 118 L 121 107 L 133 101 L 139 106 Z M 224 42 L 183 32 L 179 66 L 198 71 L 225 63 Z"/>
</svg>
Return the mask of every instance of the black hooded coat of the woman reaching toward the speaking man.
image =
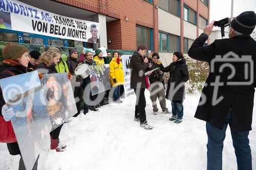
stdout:
<svg viewBox="0 0 256 170">
<path fill-rule="evenodd" d="M 165 98 L 170 101 L 183 101 L 185 94 L 184 84 L 186 81 L 188 81 L 189 77 L 185 58 L 172 62 L 167 67 L 163 67 L 162 64 L 159 66 L 161 71 L 169 72 L 170 75 L 167 83 Z"/>
</svg>

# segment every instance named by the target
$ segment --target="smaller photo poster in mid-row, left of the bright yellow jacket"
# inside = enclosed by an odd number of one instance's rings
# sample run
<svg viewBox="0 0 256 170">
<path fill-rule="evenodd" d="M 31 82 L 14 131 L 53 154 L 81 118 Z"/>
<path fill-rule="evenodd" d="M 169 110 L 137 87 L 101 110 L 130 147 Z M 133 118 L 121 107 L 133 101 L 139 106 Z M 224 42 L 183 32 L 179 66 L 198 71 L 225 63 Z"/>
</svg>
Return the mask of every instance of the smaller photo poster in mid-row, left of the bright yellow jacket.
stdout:
<svg viewBox="0 0 256 170">
<path fill-rule="evenodd" d="M 90 65 L 92 95 L 111 89 L 109 64 Z"/>
</svg>

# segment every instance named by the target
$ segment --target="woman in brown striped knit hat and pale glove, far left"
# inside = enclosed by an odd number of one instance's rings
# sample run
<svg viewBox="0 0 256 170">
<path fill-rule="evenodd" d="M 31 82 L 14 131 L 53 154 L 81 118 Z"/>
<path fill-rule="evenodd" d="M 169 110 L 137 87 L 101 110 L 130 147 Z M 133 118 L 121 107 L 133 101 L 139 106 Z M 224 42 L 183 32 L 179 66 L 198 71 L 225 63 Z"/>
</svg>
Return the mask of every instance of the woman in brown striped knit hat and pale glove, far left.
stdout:
<svg viewBox="0 0 256 170">
<path fill-rule="evenodd" d="M 3 56 L 4 56 L 4 60 L 2 61 L 2 65 L 0 65 L 0 72 L 1 72 L 0 79 L 24 74 L 27 72 L 29 55 L 28 55 L 28 49 L 26 47 L 19 44 L 8 44 L 3 49 Z M 0 89 L 0 108 L 1 108 L 0 122 L 1 123 L 3 123 L 3 121 L 9 122 L 15 114 L 13 112 L 13 109 L 8 108 L 7 104 L 5 103 L 1 89 Z M 16 138 L 12 141 L 7 142 L 7 148 L 11 155 L 20 155 L 18 169 L 26 169 L 24 161 L 20 154 L 20 150 L 19 150 L 19 146 Z M 35 161 L 33 169 L 37 169 L 38 158 L 39 156 Z"/>
</svg>

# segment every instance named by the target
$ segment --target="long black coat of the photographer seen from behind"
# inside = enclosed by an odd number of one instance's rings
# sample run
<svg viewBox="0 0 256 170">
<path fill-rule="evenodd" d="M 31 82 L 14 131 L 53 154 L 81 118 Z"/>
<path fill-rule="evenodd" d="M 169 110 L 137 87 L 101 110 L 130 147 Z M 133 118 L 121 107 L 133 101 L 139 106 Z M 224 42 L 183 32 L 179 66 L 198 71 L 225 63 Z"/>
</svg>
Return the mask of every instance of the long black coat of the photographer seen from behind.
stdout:
<svg viewBox="0 0 256 170">
<path fill-rule="evenodd" d="M 209 122 L 213 126 L 223 129 L 223 124 L 227 114 L 232 109 L 232 122 L 230 128 L 233 131 L 251 130 L 252 109 L 254 99 L 254 87 L 256 83 L 256 42 L 250 36 L 240 35 L 228 39 L 215 40 L 208 46 L 203 46 L 207 36 L 201 34 L 191 45 L 188 55 L 196 60 L 206 61 L 210 65 L 210 73 L 202 91 L 201 99 L 203 104 L 198 106 L 195 117 Z M 245 80 L 245 62 L 227 62 L 217 61 L 217 57 L 226 57 L 232 59 L 238 57 L 241 59 L 244 55 L 249 55 L 253 62 L 253 82 L 248 85 L 228 85 L 228 82 L 244 82 Z M 217 56 L 219 55 L 219 56 Z M 244 58 L 249 59 L 249 56 Z M 211 66 L 211 63 L 214 63 Z M 219 71 L 223 64 L 232 64 L 236 70 L 234 77 L 228 76 L 232 73 L 229 67 Z M 250 67 L 248 67 L 250 69 Z M 217 97 L 213 98 L 213 82 L 223 83 L 218 87 Z M 223 98 L 223 99 L 222 99 Z M 213 100 L 215 99 L 215 100 Z M 217 99 L 222 99 L 219 103 L 213 104 Z M 205 101 L 206 100 L 206 101 Z"/>
</svg>

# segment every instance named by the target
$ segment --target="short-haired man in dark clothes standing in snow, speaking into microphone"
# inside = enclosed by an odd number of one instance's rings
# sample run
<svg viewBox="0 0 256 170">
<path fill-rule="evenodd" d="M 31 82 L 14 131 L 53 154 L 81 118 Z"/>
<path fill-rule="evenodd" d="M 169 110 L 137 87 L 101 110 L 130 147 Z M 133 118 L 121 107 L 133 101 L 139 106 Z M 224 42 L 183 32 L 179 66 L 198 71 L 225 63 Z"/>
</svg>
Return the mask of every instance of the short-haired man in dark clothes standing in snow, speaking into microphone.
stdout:
<svg viewBox="0 0 256 170">
<path fill-rule="evenodd" d="M 147 124 L 146 121 L 146 99 L 145 99 L 145 88 L 146 81 L 144 73 L 148 67 L 148 59 L 145 56 L 147 52 L 146 45 L 139 45 L 137 51 L 131 57 L 130 69 L 131 69 L 131 88 L 134 89 L 136 94 L 136 106 L 135 106 L 135 117 L 134 120 L 140 120 L 140 127 L 144 129 L 153 129 L 153 126 Z"/>
</svg>

